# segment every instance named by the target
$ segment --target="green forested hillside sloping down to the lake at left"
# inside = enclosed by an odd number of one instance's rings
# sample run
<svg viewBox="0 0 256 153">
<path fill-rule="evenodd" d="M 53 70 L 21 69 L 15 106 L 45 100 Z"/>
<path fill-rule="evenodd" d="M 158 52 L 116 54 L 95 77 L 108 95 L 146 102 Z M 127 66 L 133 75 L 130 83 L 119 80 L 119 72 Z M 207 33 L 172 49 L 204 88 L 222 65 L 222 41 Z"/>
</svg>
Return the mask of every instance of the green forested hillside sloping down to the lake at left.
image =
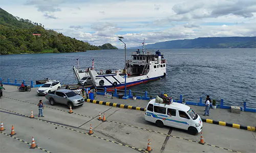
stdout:
<svg viewBox="0 0 256 153">
<path fill-rule="evenodd" d="M 40 34 L 35 36 L 33 34 Z M 46 30 L 41 23 L 15 17 L 0 8 L 0 54 L 71 53 L 100 50 L 88 42 Z M 104 47 L 102 47 L 104 49 Z"/>
</svg>

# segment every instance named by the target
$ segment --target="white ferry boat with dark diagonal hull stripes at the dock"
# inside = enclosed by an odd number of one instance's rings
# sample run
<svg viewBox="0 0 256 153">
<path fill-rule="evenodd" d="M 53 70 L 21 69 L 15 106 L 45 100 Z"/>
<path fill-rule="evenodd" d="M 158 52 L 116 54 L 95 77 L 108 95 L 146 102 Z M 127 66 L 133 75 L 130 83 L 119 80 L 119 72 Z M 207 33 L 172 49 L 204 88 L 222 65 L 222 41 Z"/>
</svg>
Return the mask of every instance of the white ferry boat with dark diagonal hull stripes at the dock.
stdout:
<svg viewBox="0 0 256 153">
<path fill-rule="evenodd" d="M 100 70 L 97 72 L 94 69 L 89 70 L 92 82 L 95 87 L 98 88 L 116 88 L 123 89 L 126 87 L 146 83 L 148 81 L 158 80 L 166 75 L 166 60 L 159 50 L 154 54 L 144 52 L 140 53 L 139 49 L 137 52 L 132 53 L 132 60 L 126 60 L 126 73 L 125 69 L 111 71 L 106 70 L 103 72 Z M 126 74 L 126 75 L 125 75 Z"/>
</svg>

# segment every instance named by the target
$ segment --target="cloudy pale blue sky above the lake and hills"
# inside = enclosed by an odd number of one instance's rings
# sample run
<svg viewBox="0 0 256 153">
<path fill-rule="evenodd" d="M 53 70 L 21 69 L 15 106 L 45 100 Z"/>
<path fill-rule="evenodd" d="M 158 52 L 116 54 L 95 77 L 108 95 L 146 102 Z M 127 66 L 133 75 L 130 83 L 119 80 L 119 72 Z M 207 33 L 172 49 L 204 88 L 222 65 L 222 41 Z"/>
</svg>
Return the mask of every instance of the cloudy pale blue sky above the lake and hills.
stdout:
<svg viewBox="0 0 256 153">
<path fill-rule="evenodd" d="M 93 45 L 256 36 L 256 0 L 0 0 L 1 8 Z"/>
</svg>

